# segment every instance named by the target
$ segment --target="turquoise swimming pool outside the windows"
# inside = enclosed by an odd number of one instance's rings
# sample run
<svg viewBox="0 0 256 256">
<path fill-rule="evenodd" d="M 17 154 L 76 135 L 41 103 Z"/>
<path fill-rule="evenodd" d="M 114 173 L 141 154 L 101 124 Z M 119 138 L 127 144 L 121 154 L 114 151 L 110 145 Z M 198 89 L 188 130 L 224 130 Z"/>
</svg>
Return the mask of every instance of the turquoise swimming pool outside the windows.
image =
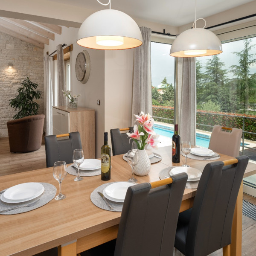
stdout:
<svg viewBox="0 0 256 256">
<path fill-rule="evenodd" d="M 172 138 L 173 133 L 173 128 L 169 127 L 169 126 L 164 126 L 164 125 L 156 125 L 154 124 L 154 131 L 156 132 L 156 134 L 160 134 L 169 138 Z M 200 134 L 200 133 L 196 133 L 196 137 L 195 137 L 195 144 L 197 146 L 201 146 L 204 148 L 208 148 L 209 147 L 209 142 L 210 142 L 210 137 L 211 135 L 208 134 Z M 244 143 L 244 145 L 248 145 L 246 143 Z M 242 143 L 241 143 L 242 146 Z"/>
</svg>

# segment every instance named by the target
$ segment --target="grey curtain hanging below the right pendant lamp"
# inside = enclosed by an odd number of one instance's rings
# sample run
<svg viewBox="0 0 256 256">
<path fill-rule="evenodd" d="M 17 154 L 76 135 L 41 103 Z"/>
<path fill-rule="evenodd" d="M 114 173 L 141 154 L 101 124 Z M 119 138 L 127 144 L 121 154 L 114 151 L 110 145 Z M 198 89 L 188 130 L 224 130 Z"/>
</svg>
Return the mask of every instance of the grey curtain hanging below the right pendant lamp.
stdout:
<svg viewBox="0 0 256 256">
<path fill-rule="evenodd" d="M 195 145 L 196 69 L 195 58 L 176 58 L 175 123 L 179 125 L 180 140 Z"/>
</svg>

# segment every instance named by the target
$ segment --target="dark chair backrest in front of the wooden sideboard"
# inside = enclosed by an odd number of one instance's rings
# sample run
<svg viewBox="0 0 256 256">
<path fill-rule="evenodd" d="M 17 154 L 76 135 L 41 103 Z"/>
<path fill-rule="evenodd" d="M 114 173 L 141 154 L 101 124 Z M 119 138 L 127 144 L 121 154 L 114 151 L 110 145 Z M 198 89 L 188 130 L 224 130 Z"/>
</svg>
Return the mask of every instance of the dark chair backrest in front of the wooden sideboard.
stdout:
<svg viewBox="0 0 256 256">
<path fill-rule="evenodd" d="M 73 163 L 73 150 L 82 148 L 81 138 L 78 131 L 66 134 L 68 139 L 57 140 L 56 135 L 44 137 L 46 167 L 52 167 L 57 161 Z"/>
</svg>

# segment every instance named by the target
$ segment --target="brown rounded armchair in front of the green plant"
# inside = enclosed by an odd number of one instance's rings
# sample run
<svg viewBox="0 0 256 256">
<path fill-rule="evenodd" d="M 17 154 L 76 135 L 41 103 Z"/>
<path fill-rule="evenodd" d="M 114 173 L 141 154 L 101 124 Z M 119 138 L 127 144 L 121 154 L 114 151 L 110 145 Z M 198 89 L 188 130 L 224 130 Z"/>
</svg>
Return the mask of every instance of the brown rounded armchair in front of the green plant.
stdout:
<svg viewBox="0 0 256 256">
<path fill-rule="evenodd" d="M 7 122 L 10 152 L 30 152 L 42 145 L 44 115 L 26 116 Z"/>
</svg>

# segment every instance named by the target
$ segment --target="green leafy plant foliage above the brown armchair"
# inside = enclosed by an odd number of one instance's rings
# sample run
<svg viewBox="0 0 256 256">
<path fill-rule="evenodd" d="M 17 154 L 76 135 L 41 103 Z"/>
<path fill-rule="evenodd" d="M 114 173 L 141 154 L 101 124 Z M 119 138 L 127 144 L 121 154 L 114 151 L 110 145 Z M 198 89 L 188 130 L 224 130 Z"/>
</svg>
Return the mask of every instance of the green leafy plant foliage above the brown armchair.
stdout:
<svg viewBox="0 0 256 256">
<path fill-rule="evenodd" d="M 20 119 L 25 116 L 38 115 L 39 105 L 34 102 L 34 99 L 41 98 L 41 90 L 38 90 L 38 84 L 33 83 L 27 77 L 21 83 L 21 86 L 17 89 L 17 96 L 14 99 L 9 100 L 9 105 L 15 110 L 19 110 L 13 119 Z"/>
</svg>

